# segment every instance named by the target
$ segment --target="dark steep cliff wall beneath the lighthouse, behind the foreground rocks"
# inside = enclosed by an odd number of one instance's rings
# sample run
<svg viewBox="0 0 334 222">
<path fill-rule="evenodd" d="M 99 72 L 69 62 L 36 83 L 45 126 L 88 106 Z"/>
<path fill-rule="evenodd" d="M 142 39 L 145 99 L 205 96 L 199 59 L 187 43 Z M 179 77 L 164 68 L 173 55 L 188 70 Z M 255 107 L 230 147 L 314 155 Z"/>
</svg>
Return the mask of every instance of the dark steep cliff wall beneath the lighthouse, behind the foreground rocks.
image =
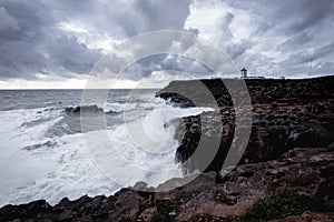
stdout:
<svg viewBox="0 0 334 222">
<path fill-rule="evenodd" d="M 215 118 L 213 125 L 223 123 L 223 127 L 202 124 L 212 122 L 215 117 L 213 113 L 184 118 L 186 131 L 177 149 L 176 160 L 186 163 L 184 168 L 187 172 L 219 171 L 229 148 L 234 145 L 235 109 L 224 82 L 219 79 L 200 82 L 209 90 L 205 93 L 212 93 L 220 109 L 222 119 Z M 334 141 L 334 77 L 305 80 L 246 79 L 245 82 L 252 100 L 253 123 L 239 163 L 273 160 L 296 147 L 326 147 Z M 210 107 L 205 100 L 208 95 L 195 85 L 198 85 L 198 81 L 174 81 L 160 90 L 157 97 L 181 107 L 193 107 L 194 103 L 184 97 L 190 94 L 196 98 L 197 105 Z M 239 91 L 238 97 L 245 97 L 245 93 Z M 222 141 L 215 159 L 208 167 L 200 165 L 200 155 L 191 157 L 198 141 L 206 140 L 210 144 L 209 141 L 216 138 L 222 138 Z"/>
</svg>

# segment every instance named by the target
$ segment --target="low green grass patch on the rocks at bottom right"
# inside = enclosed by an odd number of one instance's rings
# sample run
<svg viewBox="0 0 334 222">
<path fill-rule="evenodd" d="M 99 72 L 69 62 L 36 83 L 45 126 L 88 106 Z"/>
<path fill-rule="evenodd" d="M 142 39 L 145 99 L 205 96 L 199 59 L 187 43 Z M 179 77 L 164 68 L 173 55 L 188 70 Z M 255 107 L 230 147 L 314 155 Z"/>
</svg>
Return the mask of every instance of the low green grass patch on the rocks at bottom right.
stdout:
<svg viewBox="0 0 334 222">
<path fill-rule="evenodd" d="M 305 211 L 323 212 L 324 205 L 315 199 L 292 192 L 274 193 L 257 200 L 244 214 L 245 221 L 268 221 L 289 215 L 301 215 Z"/>
</svg>

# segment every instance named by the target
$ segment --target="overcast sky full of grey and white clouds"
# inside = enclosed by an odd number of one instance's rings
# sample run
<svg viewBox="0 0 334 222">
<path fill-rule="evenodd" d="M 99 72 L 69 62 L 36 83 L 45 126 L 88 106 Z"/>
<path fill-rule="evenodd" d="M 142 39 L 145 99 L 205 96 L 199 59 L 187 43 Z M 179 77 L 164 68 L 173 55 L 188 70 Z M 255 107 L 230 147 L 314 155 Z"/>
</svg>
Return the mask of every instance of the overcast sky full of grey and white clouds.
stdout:
<svg viewBox="0 0 334 222">
<path fill-rule="evenodd" d="M 85 88 L 105 54 L 124 58 L 116 50 L 122 41 L 159 30 L 205 39 L 250 75 L 333 74 L 333 0 L 0 0 L 0 89 Z M 119 88 L 188 78 L 180 72 L 210 77 L 170 54 L 144 58 L 128 72 Z"/>
</svg>

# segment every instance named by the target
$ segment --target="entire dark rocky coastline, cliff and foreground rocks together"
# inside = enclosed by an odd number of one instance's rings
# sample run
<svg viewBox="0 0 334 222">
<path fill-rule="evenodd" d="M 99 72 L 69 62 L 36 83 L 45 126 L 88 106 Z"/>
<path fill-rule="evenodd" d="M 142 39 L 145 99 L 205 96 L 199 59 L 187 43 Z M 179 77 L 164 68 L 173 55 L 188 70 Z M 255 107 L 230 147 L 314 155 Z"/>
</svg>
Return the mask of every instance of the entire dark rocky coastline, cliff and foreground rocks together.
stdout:
<svg viewBox="0 0 334 222">
<path fill-rule="evenodd" d="M 186 172 L 203 171 L 190 183 L 154 192 L 185 179 L 171 179 L 158 188 L 138 182 L 135 188 L 146 191 L 126 188 L 110 196 L 65 198 L 55 206 L 43 200 L 6 205 L 0 221 L 333 221 L 334 77 L 245 80 L 252 101 L 250 137 L 238 165 L 227 173 L 222 165 L 234 145 L 239 113 L 222 80 L 200 82 L 217 101 L 219 118 L 206 112 L 181 120 L 185 130 L 177 135 L 176 160 Z M 181 90 L 205 98 L 195 84 L 174 81 L 157 97 L 193 107 Z M 245 97 L 244 91 L 238 93 Z M 198 103 L 209 105 L 206 100 Z M 219 139 L 216 157 L 205 167 L 191 157 L 203 137 Z"/>
</svg>

